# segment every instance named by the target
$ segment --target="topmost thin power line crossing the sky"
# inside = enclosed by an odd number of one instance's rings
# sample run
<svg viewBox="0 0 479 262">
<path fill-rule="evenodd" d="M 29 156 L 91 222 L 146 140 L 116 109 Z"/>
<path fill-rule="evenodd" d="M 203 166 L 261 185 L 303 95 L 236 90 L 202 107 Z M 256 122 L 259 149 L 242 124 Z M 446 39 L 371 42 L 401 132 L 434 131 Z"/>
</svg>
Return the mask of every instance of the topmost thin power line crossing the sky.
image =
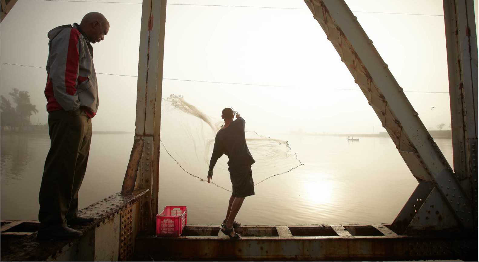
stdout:
<svg viewBox="0 0 479 262">
<path fill-rule="evenodd" d="M 78 2 L 78 3 L 85 2 L 85 3 L 110 3 L 110 4 L 141 4 L 141 2 L 110 2 L 110 1 L 80 1 L 80 0 L 31 0 L 31 1 Z M 178 3 L 170 3 L 170 4 L 167 3 L 167 5 L 309 10 L 308 8 L 274 7 L 274 6 L 246 6 L 246 5 L 208 5 L 208 4 L 178 4 Z M 444 16 L 444 15 L 442 15 L 442 14 L 417 14 L 417 13 L 374 12 L 374 11 L 353 11 L 353 12 L 357 12 L 357 13 L 376 13 L 376 14 L 400 14 L 400 15 Z M 475 17 L 477 17 L 477 16 L 475 16 Z"/>
</svg>

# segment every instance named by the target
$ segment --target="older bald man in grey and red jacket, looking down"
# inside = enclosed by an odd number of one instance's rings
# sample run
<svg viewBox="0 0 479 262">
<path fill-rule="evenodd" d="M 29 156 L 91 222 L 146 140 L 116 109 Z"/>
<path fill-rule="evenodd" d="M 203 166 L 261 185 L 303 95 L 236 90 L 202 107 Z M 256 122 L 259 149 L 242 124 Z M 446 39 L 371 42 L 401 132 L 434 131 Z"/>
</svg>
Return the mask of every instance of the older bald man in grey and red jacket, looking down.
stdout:
<svg viewBox="0 0 479 262">
<path fill-rule="evenodd" d="M 98 12 L 87 13 L 80 24 L 48 32 L 46 88 L 50 151 L 40 187 L 39 240 L 81 236 L 68 225 L 93 222 L 78 211 L 78 191 L 85 175 L 91 141 L 91 118 L 98 109 L 93 48 L 110 24 Z"/>
</svg>

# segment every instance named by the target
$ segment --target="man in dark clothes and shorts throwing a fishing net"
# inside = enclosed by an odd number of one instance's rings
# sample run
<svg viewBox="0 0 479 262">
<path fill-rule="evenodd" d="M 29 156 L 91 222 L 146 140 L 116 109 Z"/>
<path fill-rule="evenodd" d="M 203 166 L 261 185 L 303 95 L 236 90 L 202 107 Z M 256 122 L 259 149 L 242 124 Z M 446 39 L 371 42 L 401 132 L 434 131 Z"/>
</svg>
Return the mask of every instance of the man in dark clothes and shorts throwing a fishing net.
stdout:
<svg viewBox="0 0 479 262">
<path fill-rule="evenodd" d="M 233 121 L 234 113 L 230 108 L 223 109 L 221 118 L 225 120 L 225 125 L 217 132 L 215 137 L 215 145 L 208 170 L 208 184 L 213 179 L 213 168 L 218 158 L 226 154 L 233 193 L 229 197 L 228 211 L 221 224 L 221 231 L 232 239 L 239 239 L 241 235 L 235 232 L 234 227 L 239 227 L 241 224 L 236 222 L 235 218 L 244 198 L 254 195 L 251 165 L 255 161 L 246 144 L 244 119 L 237 113 L 236 120 Z"/>
</svg>

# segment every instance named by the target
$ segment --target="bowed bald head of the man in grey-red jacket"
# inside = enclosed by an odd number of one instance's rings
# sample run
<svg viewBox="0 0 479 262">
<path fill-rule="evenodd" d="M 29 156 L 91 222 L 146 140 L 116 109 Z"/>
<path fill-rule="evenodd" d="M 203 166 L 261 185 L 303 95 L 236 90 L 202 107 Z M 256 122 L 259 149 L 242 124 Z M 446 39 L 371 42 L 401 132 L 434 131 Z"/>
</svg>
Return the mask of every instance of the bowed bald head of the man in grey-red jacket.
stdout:
<svg viewBox="0 0 479 262">
<path fill-rule="evenodd" d="M 91 43 L 98 43 L 110 30 L 110 23 L 102 13 L 89 12 L 81 20 L 80 28 Z"/>
</svg>

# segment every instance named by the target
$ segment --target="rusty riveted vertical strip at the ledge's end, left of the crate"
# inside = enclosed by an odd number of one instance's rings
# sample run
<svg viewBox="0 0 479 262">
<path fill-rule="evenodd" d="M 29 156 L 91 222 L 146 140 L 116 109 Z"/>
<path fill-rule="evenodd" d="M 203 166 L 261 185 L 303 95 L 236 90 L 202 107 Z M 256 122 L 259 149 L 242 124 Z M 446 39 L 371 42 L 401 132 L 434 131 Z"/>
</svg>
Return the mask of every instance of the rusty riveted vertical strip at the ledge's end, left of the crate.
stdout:
<svg viewBox="0 0 479 262">
<path fill-rule="evenodd" d="M 119 261 L 126 261 L 133 255 L 133 208 L 131 206 L 121 212 L 120 223 L 120 257 Z"/>
</svg>

